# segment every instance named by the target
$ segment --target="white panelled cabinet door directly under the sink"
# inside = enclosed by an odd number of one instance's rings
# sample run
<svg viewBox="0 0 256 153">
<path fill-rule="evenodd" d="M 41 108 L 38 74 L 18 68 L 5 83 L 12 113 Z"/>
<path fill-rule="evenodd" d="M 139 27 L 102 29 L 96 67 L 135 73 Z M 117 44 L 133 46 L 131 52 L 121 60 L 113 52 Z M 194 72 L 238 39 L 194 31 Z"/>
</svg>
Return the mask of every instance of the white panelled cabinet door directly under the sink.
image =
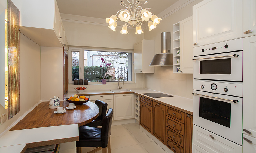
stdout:
<svg viewBox="0 0 256 153">
<path fill-rule="evenodd" d="M 134 94 L 114 95 L 114 120 L 134 118 Z"/>
</svg>

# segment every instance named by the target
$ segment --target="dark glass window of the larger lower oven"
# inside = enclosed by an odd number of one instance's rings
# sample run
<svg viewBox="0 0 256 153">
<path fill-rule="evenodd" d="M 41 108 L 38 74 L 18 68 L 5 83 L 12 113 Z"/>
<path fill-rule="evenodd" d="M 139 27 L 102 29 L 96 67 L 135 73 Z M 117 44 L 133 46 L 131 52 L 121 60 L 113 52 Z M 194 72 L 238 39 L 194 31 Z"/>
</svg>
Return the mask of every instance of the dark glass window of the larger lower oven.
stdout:
<svg viewBox="0 0 256 153">
<path fill-rule="evenodd" d="M 231 104 L 200 97 L 199 117 L 230 128 Z"/>
</svg>

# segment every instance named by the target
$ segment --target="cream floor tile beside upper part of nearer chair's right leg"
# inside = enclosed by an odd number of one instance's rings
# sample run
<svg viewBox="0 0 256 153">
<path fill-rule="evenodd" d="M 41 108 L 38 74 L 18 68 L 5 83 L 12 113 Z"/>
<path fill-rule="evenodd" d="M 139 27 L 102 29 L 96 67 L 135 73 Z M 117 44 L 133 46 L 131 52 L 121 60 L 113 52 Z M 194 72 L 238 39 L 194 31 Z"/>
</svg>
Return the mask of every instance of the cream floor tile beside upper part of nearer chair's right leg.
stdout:
<svg viewBox="0 0 256 153">
<path fill-rule="evenodd" d="M 133 135 L 124 135 L 110 138 L 110 141 L 111 150 L 139 144 L 139 141 L 137 141 Z"/>
</svg>

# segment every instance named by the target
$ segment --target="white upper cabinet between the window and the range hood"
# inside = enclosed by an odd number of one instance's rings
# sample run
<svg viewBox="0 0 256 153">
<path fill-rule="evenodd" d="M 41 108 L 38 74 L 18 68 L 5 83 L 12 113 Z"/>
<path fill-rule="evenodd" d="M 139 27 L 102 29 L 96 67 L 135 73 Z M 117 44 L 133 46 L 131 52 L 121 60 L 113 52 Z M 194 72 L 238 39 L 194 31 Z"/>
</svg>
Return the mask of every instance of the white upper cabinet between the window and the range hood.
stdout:
<svg viewBox="0 0 256 153">
<path fill-rule="evenodd" d="M 154 55 L 154 40 L 143 39 L 134 44 L 134 73 L 155 73 L 155 67 L 149 66 Z"/>
</svg>

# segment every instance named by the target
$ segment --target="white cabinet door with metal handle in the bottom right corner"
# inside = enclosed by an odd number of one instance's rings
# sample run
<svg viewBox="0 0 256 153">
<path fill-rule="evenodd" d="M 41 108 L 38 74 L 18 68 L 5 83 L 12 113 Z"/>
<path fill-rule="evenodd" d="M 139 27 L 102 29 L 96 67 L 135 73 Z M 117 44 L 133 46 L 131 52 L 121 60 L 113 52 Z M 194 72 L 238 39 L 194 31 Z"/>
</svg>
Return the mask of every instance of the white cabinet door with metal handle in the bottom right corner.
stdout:
<svg viewBox="0 0 256 153">
<path fill-rule="evenodd" d="M 256 152 L 256 138 L 243 134 L 243 152 Z"/>
</svg>

